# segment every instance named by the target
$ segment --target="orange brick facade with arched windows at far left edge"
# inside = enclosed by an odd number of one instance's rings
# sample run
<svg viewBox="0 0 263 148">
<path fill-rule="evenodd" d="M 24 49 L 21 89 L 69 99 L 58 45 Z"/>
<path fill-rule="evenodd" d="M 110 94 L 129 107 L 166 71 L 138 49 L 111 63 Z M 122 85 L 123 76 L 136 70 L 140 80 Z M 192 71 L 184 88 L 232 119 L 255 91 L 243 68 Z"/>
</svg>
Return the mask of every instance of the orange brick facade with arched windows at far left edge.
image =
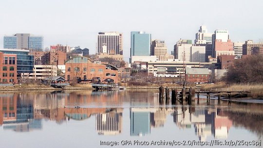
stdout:
<svg viewBox="0 0 263 148">
<path fill-rule="evenodd" d="M 17 83 L 17 55 L 0 52 L 0 83 Z"/>
</svg>

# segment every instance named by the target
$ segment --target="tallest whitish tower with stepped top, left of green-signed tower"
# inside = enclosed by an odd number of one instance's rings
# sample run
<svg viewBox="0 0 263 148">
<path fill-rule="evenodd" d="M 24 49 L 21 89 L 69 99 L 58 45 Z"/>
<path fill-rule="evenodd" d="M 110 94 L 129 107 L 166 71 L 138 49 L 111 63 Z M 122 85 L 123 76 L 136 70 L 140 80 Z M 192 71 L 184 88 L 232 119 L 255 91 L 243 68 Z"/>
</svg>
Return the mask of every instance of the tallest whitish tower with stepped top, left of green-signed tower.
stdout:
<svg viewBox="0 0 263 148">
<path fill-rule="evenodd" d="M 208 33 L 206 26 L 200 26 L 199 32 L 195 34 L 195 45 L 206 47 L 206 62 L 208 61 L 208 56 L 212 56 L 212 35 L 212 33 Z"/>
</svg>

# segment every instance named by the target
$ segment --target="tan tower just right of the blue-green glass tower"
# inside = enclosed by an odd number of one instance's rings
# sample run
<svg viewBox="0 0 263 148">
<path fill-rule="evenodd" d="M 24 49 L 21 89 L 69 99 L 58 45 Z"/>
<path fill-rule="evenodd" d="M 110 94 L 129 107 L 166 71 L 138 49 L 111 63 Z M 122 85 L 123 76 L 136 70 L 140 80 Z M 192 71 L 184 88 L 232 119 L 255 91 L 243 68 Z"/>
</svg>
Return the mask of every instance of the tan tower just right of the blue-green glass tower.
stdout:
<svg viewBox="0 0 263 148">
<path fill-rule="evenodd" d="M 160 61 L 174 59 L 173 55 L 167 53 L 167 47 L 164 40 L 155 39 L 150 45 L 151 56 L 156 56 Z"/>
</svg>

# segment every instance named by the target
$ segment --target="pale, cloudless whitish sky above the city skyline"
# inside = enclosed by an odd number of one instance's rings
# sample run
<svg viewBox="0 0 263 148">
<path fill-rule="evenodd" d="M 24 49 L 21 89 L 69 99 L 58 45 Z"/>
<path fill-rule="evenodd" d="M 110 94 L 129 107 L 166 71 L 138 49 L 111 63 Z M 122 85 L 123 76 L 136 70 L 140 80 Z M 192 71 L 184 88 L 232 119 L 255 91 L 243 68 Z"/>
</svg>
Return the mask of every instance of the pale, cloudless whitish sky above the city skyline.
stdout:
<svg viewBox="0 0 263 148">
<path fill-rule="evenodd" d="M 195 39 L 201 25 L 208 32 L 227 29 L 230 39 L 263 39 L 263 0 L 1 0 L 3 36 L 30 33 L 44 37 L 44 48 L 68 44 L 95 54 L 98 32 L 123 33 L 123 55 L 130 56 L 131 31 L 165 40 L 168 51 L 182 39 Z"/>
</svg>

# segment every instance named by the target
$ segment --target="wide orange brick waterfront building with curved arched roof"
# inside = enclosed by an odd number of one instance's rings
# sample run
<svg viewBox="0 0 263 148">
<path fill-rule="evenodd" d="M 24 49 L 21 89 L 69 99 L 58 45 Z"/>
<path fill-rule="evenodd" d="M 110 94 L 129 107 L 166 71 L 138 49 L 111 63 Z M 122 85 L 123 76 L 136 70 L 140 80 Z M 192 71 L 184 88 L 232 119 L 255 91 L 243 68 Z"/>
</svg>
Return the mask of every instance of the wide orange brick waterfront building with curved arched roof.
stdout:
<svg viewBox="0 0 263 148">
<path fill-rule="evenodd" d="M 76 56 L 65 62 L 66 80 L 92 80 L 94 78 L 105 81 L 107 79 L 118 82 L 118 69 L 109 64 L 93 63 L 88 57 Z"/>
</svg>

